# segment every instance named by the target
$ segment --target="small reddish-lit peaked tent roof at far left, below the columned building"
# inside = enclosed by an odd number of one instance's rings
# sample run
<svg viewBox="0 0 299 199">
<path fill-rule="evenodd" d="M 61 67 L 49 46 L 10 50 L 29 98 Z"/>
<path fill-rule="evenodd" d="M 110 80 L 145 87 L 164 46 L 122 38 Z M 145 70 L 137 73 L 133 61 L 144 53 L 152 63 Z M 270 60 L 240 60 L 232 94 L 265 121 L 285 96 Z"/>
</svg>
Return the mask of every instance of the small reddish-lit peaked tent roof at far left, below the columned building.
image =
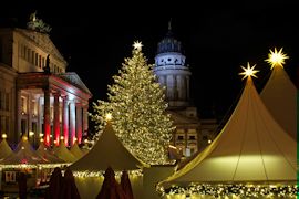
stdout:
<svg viewBox="0 0 299 199">
<path fill-rule="evenodd" d="M 4 158 L 0 165 L 37 165 L 37 164 L 49 164 L 47 159 L 41 157 L 30 145 L 27 137 L 22 137 L 19 142 L 14 153 Z"/>
</svg>

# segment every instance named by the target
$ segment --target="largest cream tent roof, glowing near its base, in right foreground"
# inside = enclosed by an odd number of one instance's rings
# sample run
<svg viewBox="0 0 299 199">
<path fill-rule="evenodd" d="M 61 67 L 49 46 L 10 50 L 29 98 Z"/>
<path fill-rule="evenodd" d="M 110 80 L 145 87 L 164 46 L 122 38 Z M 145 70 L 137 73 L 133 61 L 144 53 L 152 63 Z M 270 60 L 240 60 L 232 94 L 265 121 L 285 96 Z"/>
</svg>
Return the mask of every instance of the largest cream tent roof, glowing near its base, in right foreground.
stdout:
<svg viewBox="0 0 299 199">
<path fill-rule="evenodd" d="M 274 119 L 251 78 L 216 139 L 161 186 L 190 182 L 291 182 L 297 180 L 297 144 Z"/>
</svg>

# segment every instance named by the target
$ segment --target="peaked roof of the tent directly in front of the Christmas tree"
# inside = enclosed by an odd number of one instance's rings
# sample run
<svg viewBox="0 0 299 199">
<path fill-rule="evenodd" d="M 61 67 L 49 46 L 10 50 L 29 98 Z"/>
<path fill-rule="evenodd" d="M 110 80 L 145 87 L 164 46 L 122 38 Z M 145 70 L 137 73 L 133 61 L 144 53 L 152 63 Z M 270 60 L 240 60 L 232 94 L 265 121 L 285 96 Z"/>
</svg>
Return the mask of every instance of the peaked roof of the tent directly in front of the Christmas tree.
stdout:
<svg viewBox="0 0 299 199">
<path fill-rule="evenodd" d="M 74 171 L 101 171 L 111 166 L 113 170 L 133 170 L 143 166 L 116 137 L 111 122 L 107 122 L 102 135 L 93 148 L 80 160 L 70 166 Z"/>
</svg>

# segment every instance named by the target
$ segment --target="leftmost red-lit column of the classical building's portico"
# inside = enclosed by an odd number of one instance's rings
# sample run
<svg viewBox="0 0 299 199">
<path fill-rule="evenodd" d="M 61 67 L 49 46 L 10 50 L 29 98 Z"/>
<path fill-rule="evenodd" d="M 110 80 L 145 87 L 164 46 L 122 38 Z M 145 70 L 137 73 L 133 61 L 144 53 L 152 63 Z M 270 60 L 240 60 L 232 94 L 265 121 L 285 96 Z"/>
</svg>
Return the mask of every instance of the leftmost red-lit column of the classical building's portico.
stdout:
<svg viewBox="0 0 299 199">
<path fill-rule="evenodd" d="M 51 124 L 50 124 L 50 88 L 47 87 L 44 92 L 44 104 L 43 104 L 43 134 L 44 134 L 44 144 L 50 146 L 50 134 L 51 134 Z"/>
</svg>

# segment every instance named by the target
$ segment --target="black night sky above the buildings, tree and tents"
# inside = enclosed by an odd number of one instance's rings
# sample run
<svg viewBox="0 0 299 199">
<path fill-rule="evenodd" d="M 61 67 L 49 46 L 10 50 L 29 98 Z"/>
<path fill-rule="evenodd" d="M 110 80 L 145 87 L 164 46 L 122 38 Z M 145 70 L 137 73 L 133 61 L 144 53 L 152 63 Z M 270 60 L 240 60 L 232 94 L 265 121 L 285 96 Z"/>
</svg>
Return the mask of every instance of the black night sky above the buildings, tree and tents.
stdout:
<svg viewBox="0 0 299 199">
<path fill-rule="evenodd" d="M 41 2 L 41 1 L 40 1 Z M 122 2 L 122 1 L 120 1 Z M 299 66 L 299 1 L 209 4 L 137 1 L 63 2 L 20 1 L 1 6 L 1 22 L 24 27 L 30 13 L 52 27 L 56 48 L 69 61 L 68 71 L 76 72 L 93 93 L 92 101 L 105 100 L 107 84 L 117 74 L 132 43 L 143 42 L 143 52 L 154 63 L 157 43 L 167 32 L 182 41 L 192 75 L 192 97 L 199 115 L 212 109 L 218 117 L 235 105 L 244 81 L 240 65 L 257 64 L 258 90 L 266 83 L 270 67 L 265 62 L 269 49 L 283 48 L 290 59 L 285 65 L 291 80 Z"/>
</svg>

